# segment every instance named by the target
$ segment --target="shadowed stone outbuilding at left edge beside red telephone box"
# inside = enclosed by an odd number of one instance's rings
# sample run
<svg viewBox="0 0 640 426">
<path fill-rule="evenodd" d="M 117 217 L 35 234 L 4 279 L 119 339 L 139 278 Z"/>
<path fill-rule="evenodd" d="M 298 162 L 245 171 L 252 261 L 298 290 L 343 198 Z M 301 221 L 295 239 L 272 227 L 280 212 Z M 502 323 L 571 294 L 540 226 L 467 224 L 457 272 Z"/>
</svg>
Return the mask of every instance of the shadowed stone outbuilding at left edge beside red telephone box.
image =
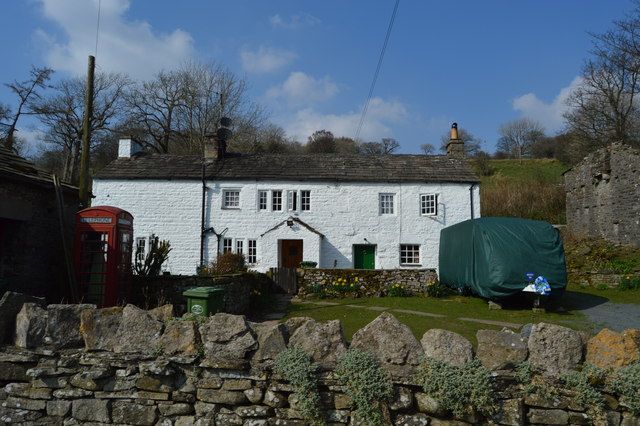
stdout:
<svg viewBox="0 0 640 426">
<path fill-rule="evenodd" d="M 78 189 L 61 183 L 62 209 L 52 176 L 0 146 L 0 294 L 19 291 L 64 297 L 67 272 L 60 210 L 71 249 Z"/>
</svg>

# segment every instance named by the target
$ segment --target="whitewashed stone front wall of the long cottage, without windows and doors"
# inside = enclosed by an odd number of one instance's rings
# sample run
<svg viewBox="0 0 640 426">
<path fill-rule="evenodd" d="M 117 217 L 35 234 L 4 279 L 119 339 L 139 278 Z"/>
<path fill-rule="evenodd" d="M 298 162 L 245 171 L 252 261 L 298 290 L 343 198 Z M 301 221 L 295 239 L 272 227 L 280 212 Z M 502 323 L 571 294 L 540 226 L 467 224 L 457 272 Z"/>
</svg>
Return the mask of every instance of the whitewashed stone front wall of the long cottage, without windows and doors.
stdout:
<svg viewBox="0 0 640 426">
<path fill-rule="evenodd" d="M 353 266 L 354 244 L 376 244 L 376 268 L 398 268 L 400 244 L 420 244 L 421 265 L 437 268 L 440 230 L 471 218 L 470 184 L 337 183 L 292 181 L 208 182 L 205 228 L 214 227 L 225 238 L 258 245 L 257 263 L 265 271 L 278 265 L 278 241 L 302 239 L 304 260 L 322 268 Z M 223 209 L 225 189 L 240 190 L 240 209 Z M 268 210 L 258 210 L 258 191 L 269 191 Z M 271 211 L 271 191 L 283 191 L 283 211 Z M 289 190 L 311 191 L 310 211 L 287 211 Z M 156 234 L 171 242 L 167 269 L 173 274 L 193 274 L 200 256 L 201 183 L 198 181 L 95 180 L 94 205 L 112 205 L 134 217 L 134 237 Z M 473 190 L 474 216 L 480 217 L 480 195 Z M 393 215 L 380 215 L 378 195 L 395 194 Z M 420 215 L 420 194 L 438 194 L 438 215 Z M 300 200 L 298 200 L 298 209 Z M 285 225 L 267 232 L 288 217 L 297 217 L 324 238 L 305 227 Z M 366 239 L 366 241 L 365 241 Z M 206 261 L 215 258 L 217 239 L 207 235 Z"/>
</svg>

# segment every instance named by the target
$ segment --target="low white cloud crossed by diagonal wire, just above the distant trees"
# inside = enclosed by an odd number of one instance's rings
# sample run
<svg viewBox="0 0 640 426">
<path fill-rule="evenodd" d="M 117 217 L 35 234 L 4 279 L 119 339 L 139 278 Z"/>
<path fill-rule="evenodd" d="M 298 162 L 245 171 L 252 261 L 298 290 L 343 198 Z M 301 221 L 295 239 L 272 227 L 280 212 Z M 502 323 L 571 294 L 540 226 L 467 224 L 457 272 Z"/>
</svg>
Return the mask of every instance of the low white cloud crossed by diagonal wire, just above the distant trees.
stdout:
<svg viewBox="0 0 640 426">
<path fill-rule="evenodd" d="M 354 137 L 361 111 L 358 109 L 345 114 L 322 114 L 313 108 L 305 108 L 287 117 L 284 127 L 289 135 L 302 142 L 316 130 L 322 129 L 329 130 L 336 136 Z M 373 98 L 369 103 L 360 138 L 369 141 L 393 136 L 392 125 L 402 123 L 408 117 L 407 108 L 401 102 Z"/>
</svg>

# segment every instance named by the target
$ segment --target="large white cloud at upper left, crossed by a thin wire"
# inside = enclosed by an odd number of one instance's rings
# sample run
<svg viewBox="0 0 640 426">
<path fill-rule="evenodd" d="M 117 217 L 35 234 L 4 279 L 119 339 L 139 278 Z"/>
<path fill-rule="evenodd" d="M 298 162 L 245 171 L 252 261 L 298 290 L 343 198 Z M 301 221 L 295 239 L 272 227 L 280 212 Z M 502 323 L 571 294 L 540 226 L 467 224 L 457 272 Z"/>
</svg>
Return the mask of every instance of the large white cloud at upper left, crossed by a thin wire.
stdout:
<svg viewBox="0 0 640 426">
<path fill-rule="evenodd" d="M 94 53 L 97 0 L 39 0 L 44 16 L 56 23 L 64 39 L 38 30 L 47 64 L 72 75 L 84 75 L 87 56 Z M 96 66 L 104 71 L 124 72 L 148 78 L 164 68 L 174 68 L 193 53 L 188 32 L 154 31 L 146 21 L 127 19 L 129 0 L 102 2 Z"/>
</svg>

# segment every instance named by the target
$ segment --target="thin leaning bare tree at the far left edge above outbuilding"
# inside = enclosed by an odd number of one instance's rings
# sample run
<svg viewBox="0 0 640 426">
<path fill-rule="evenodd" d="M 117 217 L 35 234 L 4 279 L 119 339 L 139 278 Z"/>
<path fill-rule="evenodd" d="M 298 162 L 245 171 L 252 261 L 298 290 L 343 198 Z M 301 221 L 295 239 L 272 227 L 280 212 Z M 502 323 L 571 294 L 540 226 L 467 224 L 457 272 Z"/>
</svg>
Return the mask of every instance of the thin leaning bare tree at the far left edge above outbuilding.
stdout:
<svg viewBox="0 0 640 426">
<path fill-rule="evenodd" d="M 13 148 L 18 120 L 23 114 L 32 113 L 31 104 L 41 99 L 40 90 L 47 87 L 47 81 L 51 78 L 51 74 L 53 74 L 51 68 L 32 67 L 27 80 L 16 80 L 13 83 L 6 84 L 18 97 L 18 105 L 14 112 L 11 112 L 8 107 L 5 107 L 4 111 L 1 111 L 0 114 L 0 119 L 2 119 L 2 115 L 5 115 L 5 119 L 7 120 L 7 123 L 3 126 L 6 127 L 4 145 L 7 148 Z"/>
</svg>

